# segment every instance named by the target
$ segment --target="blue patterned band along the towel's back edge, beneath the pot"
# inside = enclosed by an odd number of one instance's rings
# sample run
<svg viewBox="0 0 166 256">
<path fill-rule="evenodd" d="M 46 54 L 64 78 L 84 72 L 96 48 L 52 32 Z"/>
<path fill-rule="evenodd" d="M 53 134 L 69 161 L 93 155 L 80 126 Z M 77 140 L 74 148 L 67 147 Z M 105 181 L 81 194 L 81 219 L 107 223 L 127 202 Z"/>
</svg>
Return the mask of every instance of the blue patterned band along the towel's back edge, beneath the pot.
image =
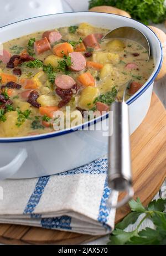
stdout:
<svg viewBox="0 0 166 256">
<path fill-rule="evenodd" d="M 91 163 L 87 163 L 84 166 L 66 171 L 66 172 L 61 172 L 58 173 L 58 176 L 62 175 L 75 175 L 75 174 L 80 174 L 80 173 L 86 173 L 86 174 L 106 174 L 108 169 L 108 160 L 107 158 L 100 158 L 98 160 L 95 160 Z"/>
</svg>

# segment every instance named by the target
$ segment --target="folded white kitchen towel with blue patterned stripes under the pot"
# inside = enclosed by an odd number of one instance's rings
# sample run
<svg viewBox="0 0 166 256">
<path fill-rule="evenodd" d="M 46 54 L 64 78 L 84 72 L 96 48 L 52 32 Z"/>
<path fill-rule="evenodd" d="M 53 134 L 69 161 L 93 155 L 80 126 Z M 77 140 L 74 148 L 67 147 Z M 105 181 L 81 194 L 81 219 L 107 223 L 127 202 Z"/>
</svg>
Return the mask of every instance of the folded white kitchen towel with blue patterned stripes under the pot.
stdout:
<svg viewBox="0 0 166 256">
<path fill-rule="evenodd" d="M 0 181 L 0 223 L 82 234 L 112 231 L 115 209 L 108 205 L 106 157 L 53 176 Z M 117 202 L 113 193 L 112 202 Z"/>
</svg>

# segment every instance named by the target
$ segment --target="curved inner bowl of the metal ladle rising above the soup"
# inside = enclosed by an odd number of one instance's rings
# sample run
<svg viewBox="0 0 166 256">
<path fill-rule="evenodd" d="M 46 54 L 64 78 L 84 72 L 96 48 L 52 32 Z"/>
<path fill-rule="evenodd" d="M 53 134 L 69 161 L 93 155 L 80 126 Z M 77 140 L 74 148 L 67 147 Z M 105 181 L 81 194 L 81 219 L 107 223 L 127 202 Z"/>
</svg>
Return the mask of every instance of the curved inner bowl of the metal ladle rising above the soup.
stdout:
<svg viewBox="0 0 166 256">
<path fill-rule="evenodd" d="M 138 29 L 132 28 L 132 27 L 116 28 L 116 29 L 113 29 L 110 32 L 108 32 L 101 40 L 111 39 L 111 38 L 130 39 L 130 40 L 136 41 L 137 43 L 141 44 L 144 48 L 146 48 L 146 50 L 148 52 L 147 62 L 149 61 L 151 50 L 150 50 L 150 45 L 149 45 L 148 39 L 147 39 L 146 35 L 144 35 Z"/>
</svg>

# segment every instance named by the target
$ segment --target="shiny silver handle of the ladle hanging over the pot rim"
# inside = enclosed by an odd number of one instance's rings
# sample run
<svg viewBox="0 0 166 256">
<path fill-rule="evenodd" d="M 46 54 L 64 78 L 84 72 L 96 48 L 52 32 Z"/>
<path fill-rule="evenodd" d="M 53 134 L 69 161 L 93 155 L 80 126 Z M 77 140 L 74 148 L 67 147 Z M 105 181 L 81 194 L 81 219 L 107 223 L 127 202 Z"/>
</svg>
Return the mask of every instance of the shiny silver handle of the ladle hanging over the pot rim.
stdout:
<svg viewBox="0 0 166 256">
<path fill-rule="evenodd" d="M 109 119 L 109 125 L 113 131 L 108 143 L 108 185 L 111 190 L 128 191 L 129 200 L 133 192 L 128 106 L 124 101 L 115 101 L 110 110 L 113 111 L 113 118 Z M 118 205 L 121 206 L 120 203 Z"/>
</svg>

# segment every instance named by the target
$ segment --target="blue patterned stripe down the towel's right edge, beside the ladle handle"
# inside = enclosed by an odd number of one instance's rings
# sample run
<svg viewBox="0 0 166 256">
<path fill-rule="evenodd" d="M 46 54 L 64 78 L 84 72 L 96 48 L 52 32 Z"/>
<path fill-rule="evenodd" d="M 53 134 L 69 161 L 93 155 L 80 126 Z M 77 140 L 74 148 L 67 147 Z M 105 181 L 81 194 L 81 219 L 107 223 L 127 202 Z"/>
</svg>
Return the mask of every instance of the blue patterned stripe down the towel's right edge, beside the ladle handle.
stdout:
<svg viewBox="0 0 166 256">
<path fill-rule="evenodd" d="M 105 185 L 103 187 L 103 194 L 100 202 L 100 208 L 98 213 L 98 222 L 101 222 L 103 224 L 103 227 L 106 227 L 107 229 L 110 229 L 109 226 L 107 226 L 107 218 L 110 215 L 111 208 L 108 208 L 107 201 L 110 196 L 110 188 L 108 187 L 108 181 L 106 177 Z"/>
</svg>

